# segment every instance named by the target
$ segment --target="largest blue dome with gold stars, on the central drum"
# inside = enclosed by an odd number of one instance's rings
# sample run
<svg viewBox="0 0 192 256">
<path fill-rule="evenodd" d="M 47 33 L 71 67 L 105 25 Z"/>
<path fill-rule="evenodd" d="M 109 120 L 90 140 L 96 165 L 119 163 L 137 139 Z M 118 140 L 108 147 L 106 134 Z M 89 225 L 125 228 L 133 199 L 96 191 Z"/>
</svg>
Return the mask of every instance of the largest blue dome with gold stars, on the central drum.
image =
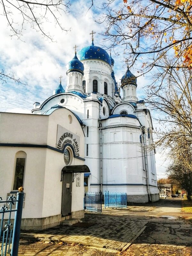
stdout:
<svg viewBox="0 0 192 256">
<path fill-rule="evenodd" d="M 95 46 L 93 43 L 77 52 L 77 56 L 79 60 L 102 60 L 111 66 L 111 59 L 108 53 L 101 47 Z"/>
</svg>

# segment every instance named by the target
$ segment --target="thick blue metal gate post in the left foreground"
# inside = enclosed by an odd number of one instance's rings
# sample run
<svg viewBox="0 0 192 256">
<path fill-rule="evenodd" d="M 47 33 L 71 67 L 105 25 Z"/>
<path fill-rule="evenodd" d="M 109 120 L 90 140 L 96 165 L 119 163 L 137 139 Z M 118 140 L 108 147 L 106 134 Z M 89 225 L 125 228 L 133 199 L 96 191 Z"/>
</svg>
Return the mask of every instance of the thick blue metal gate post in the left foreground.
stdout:
<svg viewBox="0 0 192 256">
<path fill-rule="evenodd" d="M 17 204 L 15 212 L 15 222 L 13 227 L 13 237 L 12 237 L 12 247 L 11 247 L 11 256 L 18 256 L 19 250 L 19 238 L 20 238 L 20 228 L 21 228 L 21 216 L 23 209 L 23 192 L 17 193 Z"/>
</svg>

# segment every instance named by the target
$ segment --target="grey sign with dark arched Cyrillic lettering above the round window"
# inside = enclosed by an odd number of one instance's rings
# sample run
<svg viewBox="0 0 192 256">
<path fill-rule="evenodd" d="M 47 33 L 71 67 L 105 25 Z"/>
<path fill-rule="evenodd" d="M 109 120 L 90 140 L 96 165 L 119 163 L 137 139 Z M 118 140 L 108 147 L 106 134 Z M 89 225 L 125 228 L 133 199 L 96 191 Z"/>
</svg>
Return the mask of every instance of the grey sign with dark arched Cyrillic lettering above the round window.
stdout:
<svg viewBox="0 0 192 256">
<path fill-rule="evenodd" d="M 75 151 L 75 155 L 79 156 L 80 137 L 58 124 L 56 148 L 63 150 L 67 143 L 71 144 Z"/>
</svg>

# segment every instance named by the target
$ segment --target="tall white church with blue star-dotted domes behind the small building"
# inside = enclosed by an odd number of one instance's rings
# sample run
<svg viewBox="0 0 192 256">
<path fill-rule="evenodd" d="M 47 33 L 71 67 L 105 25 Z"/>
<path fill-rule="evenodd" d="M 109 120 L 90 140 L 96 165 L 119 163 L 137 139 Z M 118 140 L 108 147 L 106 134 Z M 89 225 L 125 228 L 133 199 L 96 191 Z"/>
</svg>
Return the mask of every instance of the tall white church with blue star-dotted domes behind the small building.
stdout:
<svg viewBox="0 0 192 256">
<path fill-rule="evenodd" d="M 76 47 L 75 47 L 76 48 Z M 84 47 L 67 65 L 67 85 L 61 81 L 53 95 L 33 114 L 49 115 L 55 109 L 73 112 L 85 134 L 86 191 L 126 192 L 128 203 L 159 200 L 152 120 L 143 100 L 137 98 L 137 79 L 129 68 L 121 79 L 123 98 L 114 74 L 115 61 L 104 49 Z M 68 142 L 56 145 L 58 149 Z"/>
</svg>

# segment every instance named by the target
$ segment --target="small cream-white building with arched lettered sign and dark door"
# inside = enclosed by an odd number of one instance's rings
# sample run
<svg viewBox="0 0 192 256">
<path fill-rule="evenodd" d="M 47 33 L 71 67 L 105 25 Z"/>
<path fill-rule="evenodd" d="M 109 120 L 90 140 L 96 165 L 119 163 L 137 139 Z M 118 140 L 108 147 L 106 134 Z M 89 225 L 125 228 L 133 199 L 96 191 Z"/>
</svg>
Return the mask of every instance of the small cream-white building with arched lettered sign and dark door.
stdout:
<svg viewBox="0 0 192 256">
<path fill-rule="evenodd" d="M 83 218 L 84 132 L 66 108 L 49 115 L 0 113 L 0 195 L 24 187 L 22 229 Z M 65 166 L 75 169 L 65 171 Z"/>
</svg>

